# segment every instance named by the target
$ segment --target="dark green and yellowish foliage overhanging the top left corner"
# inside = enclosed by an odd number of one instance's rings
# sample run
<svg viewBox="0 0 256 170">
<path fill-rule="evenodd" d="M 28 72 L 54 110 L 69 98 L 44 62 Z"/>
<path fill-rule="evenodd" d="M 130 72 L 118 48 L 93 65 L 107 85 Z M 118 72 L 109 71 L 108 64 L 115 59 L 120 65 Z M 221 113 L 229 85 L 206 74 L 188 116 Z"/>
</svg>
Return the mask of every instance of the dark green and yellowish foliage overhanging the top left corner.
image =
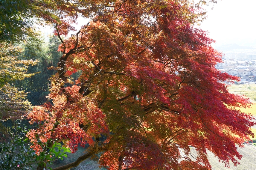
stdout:
<svg viewBox="0 0 256 170">
<path fill-rule="evenodd" d="M 53 11 L 55 3 L 55 0 L 0 0 L 0 43 L 36 37 L 35 23 L 58 22 Z"/>
</svg>

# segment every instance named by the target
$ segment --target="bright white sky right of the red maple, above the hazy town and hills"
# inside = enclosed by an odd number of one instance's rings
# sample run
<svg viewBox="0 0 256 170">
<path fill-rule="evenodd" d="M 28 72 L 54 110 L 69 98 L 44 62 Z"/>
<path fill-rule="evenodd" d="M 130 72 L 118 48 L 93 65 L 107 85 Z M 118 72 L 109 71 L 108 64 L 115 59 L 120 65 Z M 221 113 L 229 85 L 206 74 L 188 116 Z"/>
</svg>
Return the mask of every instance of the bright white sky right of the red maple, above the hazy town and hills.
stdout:
<svg viewBox="0 0 256 170">
<path fill-rule="evenodd" d="M 216 45 L 256 46 L 256 0 L 219 0 L 211 7 L 201 29 L 209 32 Z"/>
</svg>

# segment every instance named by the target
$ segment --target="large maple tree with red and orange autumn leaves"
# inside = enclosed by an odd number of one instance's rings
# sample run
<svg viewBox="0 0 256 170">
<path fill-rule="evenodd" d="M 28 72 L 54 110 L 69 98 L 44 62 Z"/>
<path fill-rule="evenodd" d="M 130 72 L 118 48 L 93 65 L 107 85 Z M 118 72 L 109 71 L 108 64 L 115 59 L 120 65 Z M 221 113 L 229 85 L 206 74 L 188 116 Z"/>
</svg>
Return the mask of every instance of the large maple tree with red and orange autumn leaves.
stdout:
<svg viewBox="0 0 256 170">
<path fill-rule="evenodd" d="M 38 123 L 27 136 L 63 142 L 75 152 L 89 144 L 66 170 L 101 153 L 110 170 L 211 169 L 207 150 L 229 166 L 241 155 L 236 144 L 253 135 L 249 99 L 228 92 L 221 81 L 238 80 L 215 64 L 221 54 L 207 33 L 194 27 L 204 11 L 187 0 L 57 0 L 51 8 L 62 44 L 51 102 L 27 115 Z M 54 6 L 52 5 L 52 6 Z M 78 16 L 90 18 L 76 35 Z M 70 75 L 79 72 L 77 80 Z M 100 141 L 104 135 L 106 140 Z M 195 147 L 197 161 L 190 159 Z M 43 167 L 38 167 L 38 169 Z"/>
</svg>

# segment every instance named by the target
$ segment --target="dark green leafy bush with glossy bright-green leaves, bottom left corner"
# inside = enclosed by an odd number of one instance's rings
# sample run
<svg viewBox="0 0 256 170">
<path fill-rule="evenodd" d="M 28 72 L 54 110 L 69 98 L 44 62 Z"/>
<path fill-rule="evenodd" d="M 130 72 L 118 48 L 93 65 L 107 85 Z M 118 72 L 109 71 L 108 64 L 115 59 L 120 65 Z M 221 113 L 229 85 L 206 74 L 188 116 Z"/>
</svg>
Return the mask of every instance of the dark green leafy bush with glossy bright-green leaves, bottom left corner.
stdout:
<svg viewBox="0 0 256 170">
<path fill-rule="evenodd" d="M 20 126 L 18 129 L 21 129 Z M 69 152 L 69 148 L 61 147 L 60 143 L 54 143 L 51 148 L 46 148 L 39 155 L 30 148 L 31 143 L 25 138 L 26 131 L 12 133 L 9 138 L 0 143 L 0 169 L 3 170 L 29 170 L 39 165 L 47 167 L 56 159 L 67 157 L 65 152 Z M 45 143 L 41 143 L 45 146 Z"/>
</svg>

